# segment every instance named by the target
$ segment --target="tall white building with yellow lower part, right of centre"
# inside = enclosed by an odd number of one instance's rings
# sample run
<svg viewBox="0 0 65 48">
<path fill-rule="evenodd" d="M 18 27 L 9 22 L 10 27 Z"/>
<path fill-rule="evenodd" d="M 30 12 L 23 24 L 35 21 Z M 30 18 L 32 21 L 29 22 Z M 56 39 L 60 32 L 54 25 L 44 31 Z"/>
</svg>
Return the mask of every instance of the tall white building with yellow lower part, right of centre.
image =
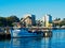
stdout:
<svg viewBox="0 0 65 48">
<path fill-rule="evenodd" d="M 42 18 L 43 21 L 43 26 L 44 27 L 52 27 L 52 16 L 49 14 L 46 14 L 46 16 L 43 16 Z"/>
</svg>

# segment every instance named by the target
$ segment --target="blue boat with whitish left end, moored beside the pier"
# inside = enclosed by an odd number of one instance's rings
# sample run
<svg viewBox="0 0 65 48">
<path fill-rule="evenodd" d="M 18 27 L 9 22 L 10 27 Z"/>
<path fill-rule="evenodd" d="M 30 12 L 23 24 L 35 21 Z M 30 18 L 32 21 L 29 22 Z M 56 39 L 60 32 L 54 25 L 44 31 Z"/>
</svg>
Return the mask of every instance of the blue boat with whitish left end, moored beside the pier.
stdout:
<svg viewBox="0 0 65 48">
<path fill-rule="evenodd" d="M 43 33 L 29 32 L 26 28 L 12 30 L 11 37 L 37 37 L 43 36 Z"/>
</svg>

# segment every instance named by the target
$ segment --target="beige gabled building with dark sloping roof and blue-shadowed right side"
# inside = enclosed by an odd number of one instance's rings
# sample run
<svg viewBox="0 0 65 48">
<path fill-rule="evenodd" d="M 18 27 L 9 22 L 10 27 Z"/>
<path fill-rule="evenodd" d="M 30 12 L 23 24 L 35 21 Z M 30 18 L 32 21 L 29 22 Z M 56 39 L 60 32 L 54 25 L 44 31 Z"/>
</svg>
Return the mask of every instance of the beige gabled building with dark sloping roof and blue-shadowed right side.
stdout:
<svg viewBox="0 0 65 48">
<path fill-rule="evenodd" d="M 36 17 L 35 15 L 27 14 L 25 17 L 21 20 L 26 27 L 31 27 L 36 25 Z"/>
</svg>

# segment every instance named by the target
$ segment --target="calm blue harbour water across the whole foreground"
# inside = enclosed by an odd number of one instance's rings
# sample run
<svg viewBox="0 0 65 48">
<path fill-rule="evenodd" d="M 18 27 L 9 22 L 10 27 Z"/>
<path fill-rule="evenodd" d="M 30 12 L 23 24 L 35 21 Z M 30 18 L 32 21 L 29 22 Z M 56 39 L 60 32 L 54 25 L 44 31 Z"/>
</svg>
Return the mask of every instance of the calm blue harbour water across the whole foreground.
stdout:
<svg viewBox="0 0 65 48">
<path fill-rule="evenodd" d="M 22 37 L 0 41 L 0 48 L 65 48 L 65 30 L 53 30 L 52 37 Z"/>
</svg>

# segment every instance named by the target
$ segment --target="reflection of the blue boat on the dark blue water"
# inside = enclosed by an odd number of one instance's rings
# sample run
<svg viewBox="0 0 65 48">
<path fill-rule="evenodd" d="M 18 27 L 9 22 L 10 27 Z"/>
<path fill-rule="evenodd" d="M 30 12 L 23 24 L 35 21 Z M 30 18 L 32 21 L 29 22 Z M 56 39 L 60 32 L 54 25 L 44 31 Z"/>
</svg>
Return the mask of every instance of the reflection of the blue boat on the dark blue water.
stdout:
<svg viewBox="0 0 65 48">
<path fill-rule="evenodd" d="M 13 48 L 41 48 L 41 37 L 13 38 Z"/>
</svg>

